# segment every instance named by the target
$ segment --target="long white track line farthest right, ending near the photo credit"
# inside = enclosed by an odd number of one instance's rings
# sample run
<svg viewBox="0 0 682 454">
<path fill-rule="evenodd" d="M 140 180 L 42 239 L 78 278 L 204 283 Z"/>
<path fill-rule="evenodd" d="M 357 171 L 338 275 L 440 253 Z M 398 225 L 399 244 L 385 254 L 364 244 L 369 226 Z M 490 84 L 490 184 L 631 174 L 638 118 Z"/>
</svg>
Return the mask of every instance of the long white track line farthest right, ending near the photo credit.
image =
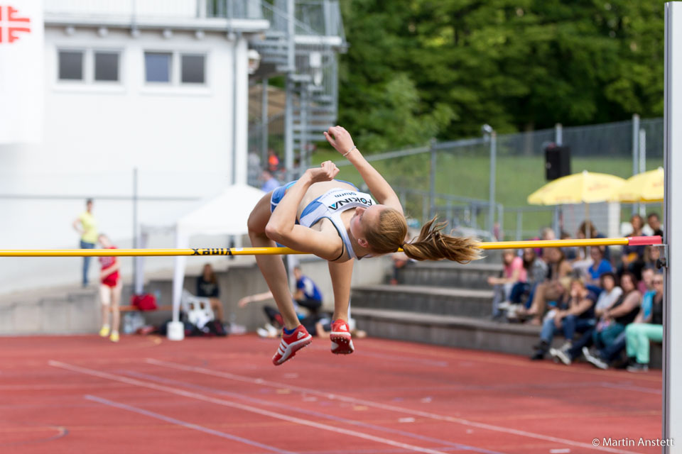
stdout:
<svg viewBox="0 0 682 454">
<path fill-rule="evenodd" d="M 507 428 L 502 426 L 494 426 L 493 424 L 477 423 L 475 421 L 469 421 L 463 418 L 455 418 L 453 416 L 445 416 L 442 414 L 431 413 L 429 411 L 411 410 L 400 406 L 381 404 L 379 402 L 372 402 L 364 399 L 356 399 L 354 397 L 342 396 L 341 394 L 333 394 L 331 392 L 318 391 L 317 389 L 305 388 L 300 386 L 295 386 L 293 384 L 271 382 L 269 380 L 263 380 L 261 378 L 244 377 L 241 375 L 230 374 L 229 372 L 217 372 L 215 370 L 206 369 L 205 367 L 194 367 L 183 364 L 178 364 L 177 362 L 159 361 L 153 358 L 146 358 L 145 360 L 149 364 L 159 365 L 163 367 L 169 367 L 171 369 L 187 370 L 190 372 L 197 372 L 205 375 L 213 375 L 215 377 L 228 378 L 230 380 L 236 380 L 239 382 L 247 382 L 251 384 L 260 384 L 262 386 L 269 386 L 281 389 L 293 389 L 298 392 L 304 392 L 306 394 L 316 394 L 318 396 L 327 397 L 328 399 L 335 399 L 341 402 L 350 402 L 352 404 L 360 404 L 366 406 L 372 406 L 377 409 L 397 411 L 403 414 L 411 414 L 414 416 L 423 416 L 424 418 L 435 419 L 438 421 L 448 421 L 451 423 L 458 423 L 464 426 L 484 428 L 489 431 L 497 431 L 502 433 L 510 433 L 513 435 L 524 436 L 528 438 L 535 438 L 536 440 L 552 441 L 553 443 L 562 443 L 564 445 L 575 446 L 576 448 L 586 448 L 591 450 L 600 450 L 606 453 L 616 453 L 616 454 L 635 454 L 632 451 L 619 450 L 614 448 L 607 448 L 605 446 L 595 446 L 592 443 L 581 443 L 580 441 L 568 440 L 567 438 L 558 438 L 548 435 L 542 435 L 541 433 L 534 433 L 528 431 L 521 431 L 515 428 Z"/>
</svg>

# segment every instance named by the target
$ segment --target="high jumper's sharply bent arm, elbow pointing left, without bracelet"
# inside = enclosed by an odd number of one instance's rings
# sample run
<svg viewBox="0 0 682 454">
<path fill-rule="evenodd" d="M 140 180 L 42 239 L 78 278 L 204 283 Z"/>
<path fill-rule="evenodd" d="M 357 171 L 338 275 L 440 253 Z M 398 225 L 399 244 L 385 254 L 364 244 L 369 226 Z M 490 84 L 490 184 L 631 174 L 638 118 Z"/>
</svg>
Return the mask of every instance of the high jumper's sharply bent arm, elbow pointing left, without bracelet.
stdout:
<svg viewBox="0 0 682 454">
<path fill-rule="evenodd" d="M 296 225 L 296 212 L 305 192 L 311 184 L 328 182 L 337 175 L 338 168 L 333 162 L 323 162 L 317 169 L 308 169 L 296 184 L 287 189 L 286 194 L 272 212 L 265 226 L 265 234 L 271 240 L 300 250 L 303 253 L 315 254 L 325 260 L 334 260 L 343 248 L 341 238 L 329 238 L 322 232 Z"/>
</svg>

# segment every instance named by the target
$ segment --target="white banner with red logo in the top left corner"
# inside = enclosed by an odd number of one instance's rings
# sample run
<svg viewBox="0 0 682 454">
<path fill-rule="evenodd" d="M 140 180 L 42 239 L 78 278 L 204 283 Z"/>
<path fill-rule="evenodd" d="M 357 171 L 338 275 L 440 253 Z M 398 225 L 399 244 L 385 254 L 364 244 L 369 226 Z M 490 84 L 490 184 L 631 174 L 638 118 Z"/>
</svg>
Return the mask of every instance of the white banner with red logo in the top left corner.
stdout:
<svg viewBox="0 0 682 454">
<path fill-rule="evenodd" d="M 43 0 L 0 0 L 0 144 L 43 131 Z"/>
</svg>

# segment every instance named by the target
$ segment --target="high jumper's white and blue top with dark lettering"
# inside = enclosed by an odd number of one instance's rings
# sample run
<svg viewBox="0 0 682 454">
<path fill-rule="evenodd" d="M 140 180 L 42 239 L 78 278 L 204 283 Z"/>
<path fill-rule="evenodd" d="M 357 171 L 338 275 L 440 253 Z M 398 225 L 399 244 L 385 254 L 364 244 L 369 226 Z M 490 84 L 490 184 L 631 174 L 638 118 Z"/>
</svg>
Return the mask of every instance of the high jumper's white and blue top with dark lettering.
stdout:
<svg viewBox="0 0 682 454">
<path fill-rule="evenodd" d="M 320 219 L 329 219 L 338 231 L 350 258 L 357 258 L 350 243 L 350 238 L 348 238 L 346 228 L 341 220 L 341 214 L 348 209 L 357 208 L 358 206 L 369 208 L 376 204 L 377 202 L 372 199 L 372 196 L 364 192 L 352 189 L 330 189 L 311 201 L 308 206 L 305 206 L 298 222 L 301 223 L 301 226 L 310 227 L 320 221 Z"/>
</svg>

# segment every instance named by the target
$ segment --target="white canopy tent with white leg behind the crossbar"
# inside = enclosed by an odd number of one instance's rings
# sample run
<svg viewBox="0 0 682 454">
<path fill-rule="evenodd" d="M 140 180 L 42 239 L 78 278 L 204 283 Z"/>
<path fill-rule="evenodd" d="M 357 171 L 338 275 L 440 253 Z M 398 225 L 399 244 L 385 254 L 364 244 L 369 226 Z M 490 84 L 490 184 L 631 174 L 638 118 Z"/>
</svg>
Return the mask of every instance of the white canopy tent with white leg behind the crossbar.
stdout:
<svg viewBox="0 0 682 454">
<path fill-rule="evenodd" d="M 248 233 L 247 221 L 264 192 L 246 184 L 234 184 L 222 194 L 175 221 L 175 248 L 188 248 L 193 235 L 242 236 Z M 185 281 L 187 256 L 175 258 L 173 272 L 173 323 L 179 329 L 180 298 Z M 141 266 L 138 267 L 141 269 Z M 171 337 L 169 326 L 168 336 Z M 182 338 L 182 336 L 175 336 Z"/>
</svg>

